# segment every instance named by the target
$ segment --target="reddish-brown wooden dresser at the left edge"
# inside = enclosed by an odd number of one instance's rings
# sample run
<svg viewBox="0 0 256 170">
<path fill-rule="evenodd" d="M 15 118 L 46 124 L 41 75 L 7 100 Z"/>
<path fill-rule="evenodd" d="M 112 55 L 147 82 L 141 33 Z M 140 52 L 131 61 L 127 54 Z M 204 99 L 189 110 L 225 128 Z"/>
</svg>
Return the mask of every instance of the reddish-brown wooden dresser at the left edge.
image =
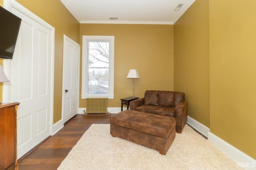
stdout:
<svg viewBox="0 0 256 170">
<path fill-rule="evenodd" d="M 19 103 L 0 104 L 0 170 L 18 170 L 17 107 Z"/>
</svg>

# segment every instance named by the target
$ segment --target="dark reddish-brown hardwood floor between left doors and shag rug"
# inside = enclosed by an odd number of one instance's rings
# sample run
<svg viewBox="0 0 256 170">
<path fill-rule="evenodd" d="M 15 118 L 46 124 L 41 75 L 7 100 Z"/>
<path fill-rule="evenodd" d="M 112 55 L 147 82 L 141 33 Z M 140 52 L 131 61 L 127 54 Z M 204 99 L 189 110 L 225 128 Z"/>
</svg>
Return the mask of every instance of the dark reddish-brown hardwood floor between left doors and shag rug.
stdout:
<svg viewBox="0 0 256 170">
<path fill-rule="evenodd" d="M 27 155 L 18 160 L 19 170 L 56 170 L 92 124 L 109 123 L 109 115 L 78 114 Z"/>
</svg>

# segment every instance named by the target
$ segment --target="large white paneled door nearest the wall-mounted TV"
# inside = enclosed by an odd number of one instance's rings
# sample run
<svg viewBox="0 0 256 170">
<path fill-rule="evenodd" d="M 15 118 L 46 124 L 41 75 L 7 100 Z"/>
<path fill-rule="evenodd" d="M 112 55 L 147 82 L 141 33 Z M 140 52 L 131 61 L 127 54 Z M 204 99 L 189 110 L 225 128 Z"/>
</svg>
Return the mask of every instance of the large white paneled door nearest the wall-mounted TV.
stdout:
<svg viewBox="0 0 256 170">
<path fill-rule="evenodd" d="M 50 135 L 54 28 L 38 23 L 16 7 L 10 10 L 22 19 L 10 62 L 10 102 L 20 103 L 17 112 L 17 158 L 20 158 Z"/>
</svg>

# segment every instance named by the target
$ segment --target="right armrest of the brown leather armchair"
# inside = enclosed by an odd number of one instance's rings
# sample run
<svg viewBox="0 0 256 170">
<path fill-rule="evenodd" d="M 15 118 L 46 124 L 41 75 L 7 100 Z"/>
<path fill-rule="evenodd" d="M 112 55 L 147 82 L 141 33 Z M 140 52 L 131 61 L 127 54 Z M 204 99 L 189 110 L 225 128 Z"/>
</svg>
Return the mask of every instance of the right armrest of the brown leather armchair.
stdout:
<svg viewBox="0 0 256 170">
<path fill-rule="evenodd" d="M 187 102 L 180 102 L 176 107 L 175 107 L 175 119 L 176 119 L 176 132 L 181 133 L 183 127 L 185 126 L 187 122 L 187 107 L 188 103 Z"/>
</svg>

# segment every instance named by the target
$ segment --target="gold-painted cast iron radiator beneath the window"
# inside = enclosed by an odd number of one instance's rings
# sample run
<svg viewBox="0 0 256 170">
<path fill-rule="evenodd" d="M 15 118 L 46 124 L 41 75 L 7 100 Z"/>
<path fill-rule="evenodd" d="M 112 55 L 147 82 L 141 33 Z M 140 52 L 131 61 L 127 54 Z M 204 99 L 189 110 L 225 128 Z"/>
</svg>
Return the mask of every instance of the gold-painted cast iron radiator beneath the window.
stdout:
<svg viewBox="0 0 256 170">
<path fill-rule="evenodd" d="M 108 98 L 86 98 L 86 115 L 89 113 L 108 114 Z"/>
</svg>

